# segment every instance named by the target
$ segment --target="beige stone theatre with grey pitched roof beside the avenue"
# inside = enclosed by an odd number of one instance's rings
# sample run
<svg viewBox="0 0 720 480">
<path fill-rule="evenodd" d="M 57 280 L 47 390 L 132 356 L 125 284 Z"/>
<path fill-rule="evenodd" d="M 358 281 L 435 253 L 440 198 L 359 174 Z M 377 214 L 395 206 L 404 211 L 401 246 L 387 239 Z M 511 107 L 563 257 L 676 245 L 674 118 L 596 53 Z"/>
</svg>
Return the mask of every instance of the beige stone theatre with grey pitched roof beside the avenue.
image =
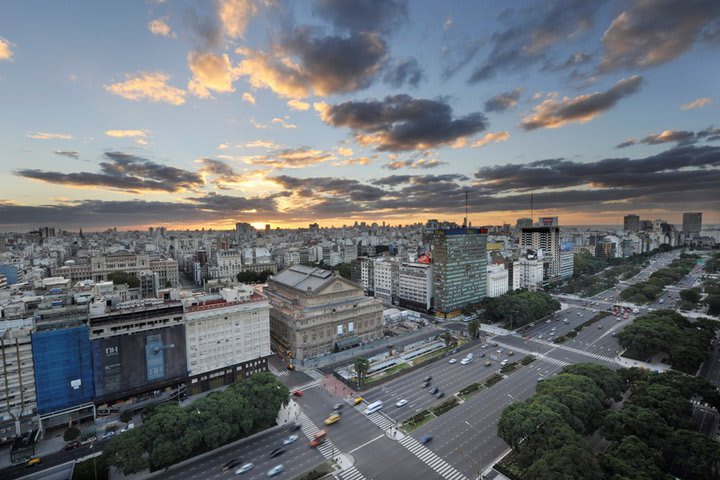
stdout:
<svg viewBox="0 0 720 480">
<path fill-rule="evenodd" d="M 382 337 L 382 303 L 328 270 L 293 265 L 268 279 L 275 352 L 298 360 Z"/>
</svg>

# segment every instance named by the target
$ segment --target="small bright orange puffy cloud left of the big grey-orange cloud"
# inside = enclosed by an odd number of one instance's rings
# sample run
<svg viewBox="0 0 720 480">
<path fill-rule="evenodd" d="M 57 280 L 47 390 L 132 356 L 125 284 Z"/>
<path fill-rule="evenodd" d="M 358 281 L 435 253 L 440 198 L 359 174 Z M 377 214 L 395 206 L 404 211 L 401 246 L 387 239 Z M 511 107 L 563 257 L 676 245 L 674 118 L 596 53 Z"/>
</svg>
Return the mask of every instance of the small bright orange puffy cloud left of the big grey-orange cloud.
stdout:
<svg viewBox="0 0 720 480">
<path fill-rule="evenodd" d="M 210 90 L 219 93 L 235 91 L 232 84 L 232 66 L 227 54 L 190 52 L 188 67 L 193 74 L 193 78 L 188 83 L 188 90 L 193 95 L 199 98 L 209 98 Z"/>
</svg>

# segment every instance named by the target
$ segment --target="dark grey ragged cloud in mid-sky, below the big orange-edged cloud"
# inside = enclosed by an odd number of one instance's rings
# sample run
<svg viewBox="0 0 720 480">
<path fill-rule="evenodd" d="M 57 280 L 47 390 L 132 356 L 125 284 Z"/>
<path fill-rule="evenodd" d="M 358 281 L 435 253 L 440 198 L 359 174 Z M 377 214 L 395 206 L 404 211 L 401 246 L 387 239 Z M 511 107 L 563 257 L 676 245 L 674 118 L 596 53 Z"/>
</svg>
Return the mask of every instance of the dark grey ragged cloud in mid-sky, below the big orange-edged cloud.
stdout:
<svg viewBox="0 0 720 480">
<path fill-rule="evenodd" d="M 384 100 L 349 101 L 320 109 L 322 120 L 348 127 L 361 145 L 381 151 L 422 150 L 447 145 L 485 130 L 487 120 L 476 112 L 453 118 L 443 100 L 394 95 Z"/>
</svg>

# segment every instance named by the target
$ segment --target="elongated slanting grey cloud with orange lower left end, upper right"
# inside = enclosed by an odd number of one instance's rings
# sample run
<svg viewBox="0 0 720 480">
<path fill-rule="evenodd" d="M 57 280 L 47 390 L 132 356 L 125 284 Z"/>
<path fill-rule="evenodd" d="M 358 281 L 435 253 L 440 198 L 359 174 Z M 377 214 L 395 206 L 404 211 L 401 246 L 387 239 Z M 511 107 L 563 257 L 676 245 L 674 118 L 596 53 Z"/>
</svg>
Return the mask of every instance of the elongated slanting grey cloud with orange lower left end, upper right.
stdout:
<svg viewBox="0 0 720 480">
<path fill-rule="evenodd" d="M 562 100 L 548 98 L 523 118 L 520 126 L 525 130 L 558 128 L 571 122 L 585 123 L 614 107 L 622 98 L 640 89 L 642 77 L 635 75 L 617 82 L 606 92 L 580 95 Z"/>
</svg>

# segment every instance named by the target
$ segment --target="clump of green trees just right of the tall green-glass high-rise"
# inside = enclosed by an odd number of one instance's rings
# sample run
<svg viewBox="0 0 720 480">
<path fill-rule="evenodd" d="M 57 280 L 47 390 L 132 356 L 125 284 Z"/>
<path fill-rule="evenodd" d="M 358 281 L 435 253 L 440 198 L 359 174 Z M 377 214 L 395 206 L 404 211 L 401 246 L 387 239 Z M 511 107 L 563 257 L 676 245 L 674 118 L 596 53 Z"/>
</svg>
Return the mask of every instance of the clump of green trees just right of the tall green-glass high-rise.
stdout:
<svg viewBox="0 0 720 480">
<path fill-rule="evenodd" d="M 545 292 L 515 290 L 485 303 L 485 316 L 493 322 L 504 322 L 518 328 L 560 310 L 560 302 Z"/>
</svg>

